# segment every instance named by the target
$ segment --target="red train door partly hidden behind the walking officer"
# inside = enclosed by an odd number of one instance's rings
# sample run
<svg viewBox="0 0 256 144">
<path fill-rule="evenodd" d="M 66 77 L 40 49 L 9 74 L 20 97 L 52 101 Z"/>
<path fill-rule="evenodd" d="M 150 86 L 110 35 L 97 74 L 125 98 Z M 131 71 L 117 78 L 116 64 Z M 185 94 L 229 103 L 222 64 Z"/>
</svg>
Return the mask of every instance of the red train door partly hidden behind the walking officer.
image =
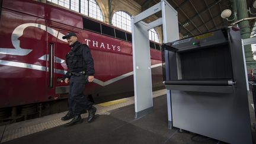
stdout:
<svg viewBox="0 0 256 144">
<path fill-rule="evenodd" d="M 48 37 L 49 43 L 49 71 L 47 71 L 48 81 L 48 95 L 54 99 L 66 98 L 69 92 L 69 85 L 60 82 L 60 78 L 65 75 L 68 68 L 65 63 L 66 54 L 71 50 L 66 40 L 62 39 L 68 30 L 60 30 L 57 27 L 48 27 L 54 31 Z"/>
</svg>

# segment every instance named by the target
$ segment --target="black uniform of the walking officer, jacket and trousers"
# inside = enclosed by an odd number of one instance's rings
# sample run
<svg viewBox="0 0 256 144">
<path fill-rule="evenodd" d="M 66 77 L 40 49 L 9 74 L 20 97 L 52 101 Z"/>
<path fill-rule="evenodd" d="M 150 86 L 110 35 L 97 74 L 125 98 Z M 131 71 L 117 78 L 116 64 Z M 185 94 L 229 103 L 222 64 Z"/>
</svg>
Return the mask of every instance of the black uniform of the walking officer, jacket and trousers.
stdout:
<svg viewBox="0 0 256 144">
<path fill-rule="evenodd" d="M 69 71 L 65 77 L 70 78 L 69 111 L 76 116 L 92 107 L 92 103 L 83 94 L 87 83 L 86 76 L 94 75 L 94 60 L 89 47 L 76 41 L 66 55 L 66 65 Z"/>
</svg>

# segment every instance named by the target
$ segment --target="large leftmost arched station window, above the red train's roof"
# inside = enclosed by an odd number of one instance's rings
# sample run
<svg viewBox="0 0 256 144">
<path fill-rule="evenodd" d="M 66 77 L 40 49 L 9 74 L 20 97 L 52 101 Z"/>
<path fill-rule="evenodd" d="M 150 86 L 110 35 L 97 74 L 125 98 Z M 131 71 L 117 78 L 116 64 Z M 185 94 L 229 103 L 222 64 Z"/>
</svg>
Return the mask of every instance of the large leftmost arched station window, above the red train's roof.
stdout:
<svg viewBox="0 0 256 144">
<path fill-rule="evenodd" d="M 103 14 L 100 7 L 95 0 L 47 0 L 53 2 L 62 7 L 72 9 L 89 17 L 96 18 L 97 20 L 103 20 Z"/>
</svg>

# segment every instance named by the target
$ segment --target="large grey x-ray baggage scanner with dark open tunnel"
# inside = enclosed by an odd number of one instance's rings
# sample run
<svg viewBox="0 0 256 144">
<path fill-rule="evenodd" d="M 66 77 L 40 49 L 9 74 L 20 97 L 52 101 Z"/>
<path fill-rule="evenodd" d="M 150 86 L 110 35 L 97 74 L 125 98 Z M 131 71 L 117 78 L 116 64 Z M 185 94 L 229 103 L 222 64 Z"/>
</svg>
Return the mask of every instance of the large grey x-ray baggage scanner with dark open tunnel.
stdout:
<svg viewBox="0 0 256 144">
<path fill-rule="evenodd" d="M 252 143 L 238 28 L 162 45 L 172 126 L 228 143 Z"/>
</svg>

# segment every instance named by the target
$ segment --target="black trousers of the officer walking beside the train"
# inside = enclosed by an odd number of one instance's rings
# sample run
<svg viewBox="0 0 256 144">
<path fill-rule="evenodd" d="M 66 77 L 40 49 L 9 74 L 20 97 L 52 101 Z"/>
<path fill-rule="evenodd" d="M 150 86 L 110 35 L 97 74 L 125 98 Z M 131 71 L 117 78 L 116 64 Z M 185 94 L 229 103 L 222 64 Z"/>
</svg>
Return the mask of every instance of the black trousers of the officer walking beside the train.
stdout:
<svg viewBox="0 0 256 144">
<path fill-rule="evenodd" d="M 88 101 L 83 93 L 85 84 L 85 75 L 71 76 L 68 103 L 69 110 L 75 115 L 81 114 L 84 110 L 88 110 L 92 106 L 92 103 Z"/>
</svg>

